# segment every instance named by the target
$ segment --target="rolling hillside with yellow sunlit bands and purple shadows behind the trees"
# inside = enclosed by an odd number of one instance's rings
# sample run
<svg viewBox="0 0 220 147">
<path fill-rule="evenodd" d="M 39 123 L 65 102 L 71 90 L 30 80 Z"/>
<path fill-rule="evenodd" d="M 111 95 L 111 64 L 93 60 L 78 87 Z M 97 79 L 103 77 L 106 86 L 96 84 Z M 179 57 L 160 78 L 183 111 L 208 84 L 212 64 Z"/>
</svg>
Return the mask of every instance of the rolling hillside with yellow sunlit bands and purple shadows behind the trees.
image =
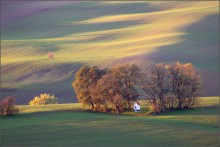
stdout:
<svg viewBox="0 0 220 147">
<path fill-rule="evenodd" d="M 43 92 L 74 101 L 83 64 L 192 62 L 204 94 L 218 93 L 218 2 L 2 2 L 3 95 L 27 104 Z M 211 19 L 209 19 L 211 17 Z M 194 26 L 195 25 L 195 26 Z M 47 60 L 53 51 L 55 59 Z"/>
</svg>

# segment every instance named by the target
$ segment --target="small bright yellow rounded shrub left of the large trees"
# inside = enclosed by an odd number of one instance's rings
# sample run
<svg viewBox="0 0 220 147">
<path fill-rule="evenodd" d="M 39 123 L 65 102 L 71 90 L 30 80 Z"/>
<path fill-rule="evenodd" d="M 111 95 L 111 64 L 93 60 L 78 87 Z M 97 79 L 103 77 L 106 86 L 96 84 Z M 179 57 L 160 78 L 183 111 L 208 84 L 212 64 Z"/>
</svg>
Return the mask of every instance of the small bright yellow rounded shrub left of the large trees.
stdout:
<svg viewBox="0 0 220 147">
<path fill-rule="evenodd" d="M 29 105 L 48 105 L 48 104 L 57 104 L 58 98 L 54 95 L 50 95 L 48 93 L 41 94 L 40 96 L 34 97 L 32 101 L 30 101 Z"/>
</svg>

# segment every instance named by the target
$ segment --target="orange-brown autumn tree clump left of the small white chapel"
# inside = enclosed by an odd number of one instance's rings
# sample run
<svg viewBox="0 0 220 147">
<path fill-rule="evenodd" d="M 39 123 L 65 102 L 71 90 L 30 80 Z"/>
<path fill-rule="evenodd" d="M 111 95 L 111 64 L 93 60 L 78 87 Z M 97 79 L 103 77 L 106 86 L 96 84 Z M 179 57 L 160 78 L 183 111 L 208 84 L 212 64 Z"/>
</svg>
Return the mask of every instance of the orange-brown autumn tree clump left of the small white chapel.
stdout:
<svg viewBox="0 0 220 147">
<path fill-rule="evenodd" d="M 111 69 L 97 66 L 81 67 L 75 74 L 73 87 L 77 99 L 95 111 L 120 113 L 131 110 L 138 98 L 136 81 L 140 69 L 136 65 L 125 65 Z"/>
</svg>

